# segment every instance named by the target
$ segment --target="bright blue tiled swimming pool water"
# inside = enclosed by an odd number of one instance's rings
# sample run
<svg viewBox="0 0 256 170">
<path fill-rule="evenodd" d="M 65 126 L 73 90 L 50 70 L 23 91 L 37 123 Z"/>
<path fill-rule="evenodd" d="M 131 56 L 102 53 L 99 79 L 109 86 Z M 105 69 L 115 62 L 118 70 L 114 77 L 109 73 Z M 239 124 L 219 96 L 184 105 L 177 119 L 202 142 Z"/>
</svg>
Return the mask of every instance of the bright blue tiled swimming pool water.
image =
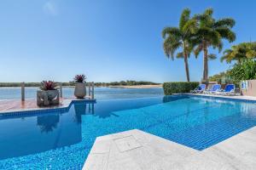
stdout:
<svg viewBox="0 0 256 170">
<path fill-rule="evenodd" d="M 204 150 L 255 126 L 255 107 L 177 95 L 0 115 L 0 169 L 81 169 L 96 137 L 134 128 Z"/>
</svg>

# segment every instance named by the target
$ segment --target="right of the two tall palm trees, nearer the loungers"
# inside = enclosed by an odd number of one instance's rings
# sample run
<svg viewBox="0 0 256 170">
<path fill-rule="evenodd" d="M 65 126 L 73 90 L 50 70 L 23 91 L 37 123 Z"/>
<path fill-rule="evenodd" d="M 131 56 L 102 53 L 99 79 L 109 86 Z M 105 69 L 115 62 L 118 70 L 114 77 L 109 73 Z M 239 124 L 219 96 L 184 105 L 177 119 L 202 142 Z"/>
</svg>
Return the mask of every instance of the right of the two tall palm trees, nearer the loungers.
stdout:
<svg viewBox="0 0 256 170">
<path fill-rule="evenodd" d="M 197 33 L 193 39 L 193 42 L 197 44 L 195 48 L 195 56 L 203 51 L 203 77 L 202 81 L 208 81 L 208 59 L 213 55 L 208 54 L 208 48 L 218 48 L 218 53 L 223 48 L 223 39 L 233 42 L 236 39 L 236 34 L 231 31 L 231 28 L 235 26 L 235 20 L 231 18 L 224 18 L 221 20 L 215 20 L 212 18 L 212 8 L 207 8 L 203 14 L 195 15 L 195 20 L 198 20 Z M 214 59 L 216 57 L 213 57 Z"/>
</svg>

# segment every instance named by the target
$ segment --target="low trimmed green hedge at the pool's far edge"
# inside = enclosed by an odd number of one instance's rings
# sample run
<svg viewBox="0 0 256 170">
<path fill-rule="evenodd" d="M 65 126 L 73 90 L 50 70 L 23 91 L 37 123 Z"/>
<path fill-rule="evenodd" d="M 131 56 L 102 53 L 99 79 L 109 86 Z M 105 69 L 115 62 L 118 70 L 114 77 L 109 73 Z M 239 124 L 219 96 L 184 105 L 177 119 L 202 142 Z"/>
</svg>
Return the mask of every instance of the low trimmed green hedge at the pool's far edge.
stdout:
<svg viewBox="0 0 256 170">
<path fill-rule="evenodd" d="M 165 95 L 189 93 L 190 90 L 199 86 L 199 82 L 164 82 Z"/>
</svg>

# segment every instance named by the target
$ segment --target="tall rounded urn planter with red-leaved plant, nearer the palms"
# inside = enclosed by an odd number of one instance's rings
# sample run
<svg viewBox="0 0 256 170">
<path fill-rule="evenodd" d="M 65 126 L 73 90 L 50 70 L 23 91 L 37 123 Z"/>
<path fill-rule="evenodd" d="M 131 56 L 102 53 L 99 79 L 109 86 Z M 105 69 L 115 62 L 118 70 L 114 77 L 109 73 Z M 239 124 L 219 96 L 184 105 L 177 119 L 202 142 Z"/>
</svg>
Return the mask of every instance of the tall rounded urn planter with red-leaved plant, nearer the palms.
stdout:
<svg viewBox="0 0 256 170">
<path fill-rule="evenodd" d="M 84 75 L 76 75 L 74 77 L 74 81 L 76 82 L 74 95 L 78 99 L 83 99 L 86 95 L 85 79 L 86 77 Z"/>
</svg>

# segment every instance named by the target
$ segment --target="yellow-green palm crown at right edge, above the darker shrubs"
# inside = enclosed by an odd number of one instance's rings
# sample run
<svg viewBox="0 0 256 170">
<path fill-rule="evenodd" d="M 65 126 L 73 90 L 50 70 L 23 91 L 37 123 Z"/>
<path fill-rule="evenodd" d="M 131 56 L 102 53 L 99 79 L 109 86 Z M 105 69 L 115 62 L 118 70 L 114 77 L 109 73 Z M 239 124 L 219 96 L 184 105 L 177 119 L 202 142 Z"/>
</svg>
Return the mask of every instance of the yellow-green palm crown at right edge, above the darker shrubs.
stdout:
<svg viewBox="0 0 256 170">
<path fill-rule="evenodd" d="M 230 63 L 236 60 L 239 64 L 245 59 L 256 58 L 256 42 L 242 42 L 238 45 L 232 46 L 230 49 L 224 50 L 224 55 L 221 57 L 221 62 L 226 60 Z"/>
</svg>

